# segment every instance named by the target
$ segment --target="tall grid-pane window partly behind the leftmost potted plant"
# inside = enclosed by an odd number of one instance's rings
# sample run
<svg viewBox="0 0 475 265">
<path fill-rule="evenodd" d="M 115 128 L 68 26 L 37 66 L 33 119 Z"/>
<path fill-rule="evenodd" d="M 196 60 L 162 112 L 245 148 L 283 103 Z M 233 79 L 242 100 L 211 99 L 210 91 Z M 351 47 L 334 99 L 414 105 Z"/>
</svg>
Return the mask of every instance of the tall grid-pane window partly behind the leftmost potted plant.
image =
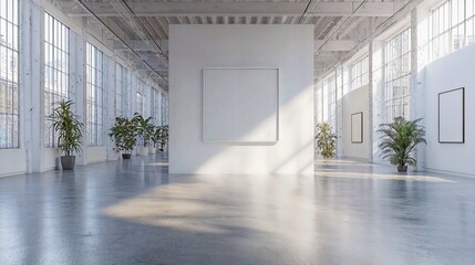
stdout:
<svg viewBox="0 0 475 265">
<path fill-rule="evenodd" d="M 56 147 L 56 131 L 49 116 L 61 99 L 68 99 L 70 76 L 70 30 L 44 13 L 44 146 Z"/>
</svg>

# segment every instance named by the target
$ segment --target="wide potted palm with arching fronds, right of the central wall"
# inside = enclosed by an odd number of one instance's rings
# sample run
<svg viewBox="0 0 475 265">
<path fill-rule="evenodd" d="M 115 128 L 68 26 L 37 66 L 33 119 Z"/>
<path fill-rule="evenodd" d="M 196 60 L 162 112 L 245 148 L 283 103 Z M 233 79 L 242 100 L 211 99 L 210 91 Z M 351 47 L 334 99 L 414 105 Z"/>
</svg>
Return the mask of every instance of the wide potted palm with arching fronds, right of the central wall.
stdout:
<svg viewBox="0 0 475 265">
<path fill-rule="evenodd" d="M 396 165 L 399 172 L 407 172 L 407 165 L 415 166 L 414 148 L 421 142 L 427 144 L 424 139 L 424 127 L 417 124 L 420 120 L 395 117 L 393 123 L 380 125 L 378 131 L 382 134 L 381 156 L 384 159 L 389 158 L 392 165 Z"/>
</svg>

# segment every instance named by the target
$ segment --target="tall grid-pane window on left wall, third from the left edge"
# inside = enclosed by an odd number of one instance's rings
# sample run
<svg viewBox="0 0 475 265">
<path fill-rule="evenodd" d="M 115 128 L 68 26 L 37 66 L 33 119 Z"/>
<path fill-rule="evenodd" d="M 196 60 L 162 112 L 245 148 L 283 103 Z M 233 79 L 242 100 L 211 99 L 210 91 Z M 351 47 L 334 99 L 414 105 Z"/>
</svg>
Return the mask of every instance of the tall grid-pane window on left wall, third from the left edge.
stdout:
<svg viewBox="0 0 475 265">
<path fill-rule="evenodd" d="M 86 137 L 87 146 L 104 145 L 104 54 L 86 44 Z"/>
</svg>

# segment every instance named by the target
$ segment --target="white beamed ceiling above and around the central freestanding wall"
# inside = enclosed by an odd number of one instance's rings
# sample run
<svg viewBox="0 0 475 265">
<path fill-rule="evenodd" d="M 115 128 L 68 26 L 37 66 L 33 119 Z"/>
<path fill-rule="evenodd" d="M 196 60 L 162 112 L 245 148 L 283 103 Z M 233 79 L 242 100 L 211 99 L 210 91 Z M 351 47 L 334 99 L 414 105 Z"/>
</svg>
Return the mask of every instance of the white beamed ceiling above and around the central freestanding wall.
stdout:
<svg viewBox="0 0 475 265">
<path fill-rule="evenodd" d="M 395 21 L 403 1 L 317 0 L 54 0 L 72 18 L 94 20 L 113 34 L 114 50 L 167 89 L 169 24 L 312 24 L 316 78 Z"/>
</svg>

